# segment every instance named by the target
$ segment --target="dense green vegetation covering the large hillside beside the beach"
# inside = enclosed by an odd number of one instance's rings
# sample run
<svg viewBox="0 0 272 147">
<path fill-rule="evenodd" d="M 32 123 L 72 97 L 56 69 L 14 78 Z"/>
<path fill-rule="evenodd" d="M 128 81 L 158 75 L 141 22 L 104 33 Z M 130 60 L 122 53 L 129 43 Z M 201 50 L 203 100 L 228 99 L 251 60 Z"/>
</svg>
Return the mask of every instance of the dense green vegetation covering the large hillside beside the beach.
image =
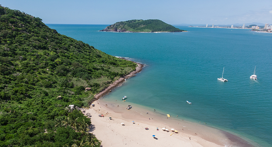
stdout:
<svg viewBox="0 0 272 147">
<path fill-rule="evenodd" d="M 0 5 L 0 147 L 100 146 L 90 119 L 67 107 L 88 107 L 135 67 Z"/>
</svg>

